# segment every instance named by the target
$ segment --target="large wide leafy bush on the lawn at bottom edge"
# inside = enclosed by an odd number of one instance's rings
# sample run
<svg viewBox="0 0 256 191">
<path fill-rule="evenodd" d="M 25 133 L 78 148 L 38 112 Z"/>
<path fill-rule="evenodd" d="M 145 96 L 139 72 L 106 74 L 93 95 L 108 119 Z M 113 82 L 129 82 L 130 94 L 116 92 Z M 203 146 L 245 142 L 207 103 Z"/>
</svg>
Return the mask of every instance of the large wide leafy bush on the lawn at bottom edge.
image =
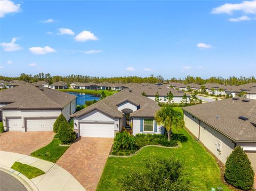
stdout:
<svg viewBox="0 0 256 191">
<path fill-rule="evenodd" d="M 146 160 L 146 170 L 132 169 L 119 178 L 122 190 L 190 190 L 190 182 L 183 179 L 182 164 L 173 158 Z"/>
</svg>

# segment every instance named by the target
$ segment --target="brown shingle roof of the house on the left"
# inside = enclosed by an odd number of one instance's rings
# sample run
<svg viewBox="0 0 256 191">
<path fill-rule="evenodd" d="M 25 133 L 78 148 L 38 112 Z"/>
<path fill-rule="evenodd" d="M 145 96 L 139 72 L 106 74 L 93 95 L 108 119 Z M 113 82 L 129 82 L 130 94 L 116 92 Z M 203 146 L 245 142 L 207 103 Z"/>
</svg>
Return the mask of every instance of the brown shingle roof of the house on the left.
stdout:
<svg viewBox="0 0 256 191">
<path fill-rule="evenodd" d="M 62 109 L 76 96 L 26 83 L 0 92 L 3 109 Z"/>
</svg>

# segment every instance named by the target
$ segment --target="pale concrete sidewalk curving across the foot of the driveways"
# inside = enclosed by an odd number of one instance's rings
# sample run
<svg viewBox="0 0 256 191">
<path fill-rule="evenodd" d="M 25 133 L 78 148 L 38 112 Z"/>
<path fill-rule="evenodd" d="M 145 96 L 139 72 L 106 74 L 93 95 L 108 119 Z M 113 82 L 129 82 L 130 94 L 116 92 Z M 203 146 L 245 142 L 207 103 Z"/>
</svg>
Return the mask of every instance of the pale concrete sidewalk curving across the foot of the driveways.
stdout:
<svg viewBox="0 0 256 191">
<path fill-rule="evenodd" d="M 52 162 L 19 153 L 0 151 L 0 168 L 11 168 L 14 162 L 31 165 L 45 172 L 30 179 L 40 191 L 85 190 L 84 187 L 65 169 Z M 28 182 L 28 184 L 30 184 Z"/>
</svg>

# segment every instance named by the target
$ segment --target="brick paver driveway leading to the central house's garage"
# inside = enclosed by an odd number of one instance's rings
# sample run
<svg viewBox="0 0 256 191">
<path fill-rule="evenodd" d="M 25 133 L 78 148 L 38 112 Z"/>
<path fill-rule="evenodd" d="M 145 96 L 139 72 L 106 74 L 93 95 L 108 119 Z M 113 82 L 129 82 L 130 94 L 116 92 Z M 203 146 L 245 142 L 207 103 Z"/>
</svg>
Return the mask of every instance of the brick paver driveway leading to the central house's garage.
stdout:
<svg viewBox="0 0 256 191">
<path fill-rule="evenodd" d="M 73 175 L 87 191 L 97 188 L 113 144 L 113 138 L 81 137 L 57 164 Z"/>
</svg>

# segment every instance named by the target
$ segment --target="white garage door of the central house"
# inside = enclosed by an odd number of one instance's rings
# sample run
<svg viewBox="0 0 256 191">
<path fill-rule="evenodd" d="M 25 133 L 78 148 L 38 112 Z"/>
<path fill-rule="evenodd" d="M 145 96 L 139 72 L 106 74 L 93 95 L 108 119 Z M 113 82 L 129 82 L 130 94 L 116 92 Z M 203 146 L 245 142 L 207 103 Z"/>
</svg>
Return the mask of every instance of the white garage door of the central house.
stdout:
<svg viewBox="0 0 256 191">
<path fill-rule="evenodd" d="M 114 123 L 80 123 L 82 137 L 114 137 Z"/>
</svg>

